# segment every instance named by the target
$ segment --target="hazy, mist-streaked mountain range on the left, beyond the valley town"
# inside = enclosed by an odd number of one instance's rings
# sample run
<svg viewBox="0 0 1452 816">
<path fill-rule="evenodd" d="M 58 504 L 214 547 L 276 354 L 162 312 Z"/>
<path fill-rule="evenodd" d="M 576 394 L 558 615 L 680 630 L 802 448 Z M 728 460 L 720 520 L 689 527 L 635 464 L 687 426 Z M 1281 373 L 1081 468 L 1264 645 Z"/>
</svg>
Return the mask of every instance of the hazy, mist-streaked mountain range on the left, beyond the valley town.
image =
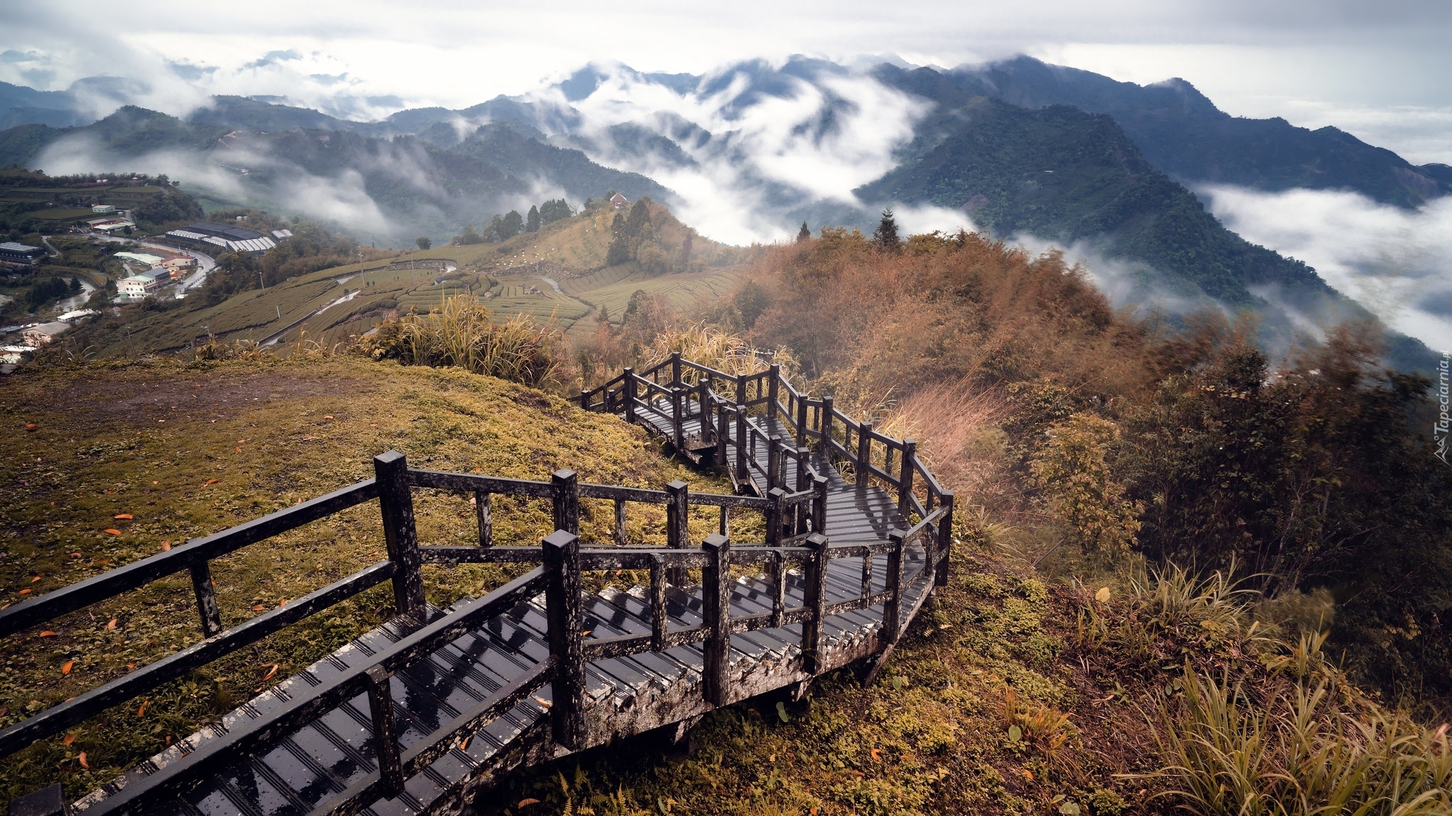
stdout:
<svg viewBox="0 0 1452 816">
<path fill-rule="evenodd" d="M 80 128 L 0 131 L 0 166 L 35 167 L 52 148 L 84 151 L 103 168 L 151 166 L 154 157 L 166 155 L 193 168 L 199 176 L 189 180 L 193 189 L 215 187 L 211 195 L 222 200 L 280 212 L 321 200 L 318 209 L 333 208 L 333 218 L 344 225 L 393 241 L 454 235 L 465 224 L 529 209 L 556 195 L 576 202 L 610 190 L 630 199 L 671 196 L 645 176 L 603 167 L 579 150 L 546 144 L 543 134 L 508 121 L 466 125 L 463 138 L 444 122 L 434 125 L 444 134 L 392 138 L 340 123 L 312 110 L 240 97 L 227 97 L 190 121 L 128 106 Z M 208 170 L 196 173 L 197 167 Z M 378 216 L 367 216 L 372 208 Z"/>
</svg>

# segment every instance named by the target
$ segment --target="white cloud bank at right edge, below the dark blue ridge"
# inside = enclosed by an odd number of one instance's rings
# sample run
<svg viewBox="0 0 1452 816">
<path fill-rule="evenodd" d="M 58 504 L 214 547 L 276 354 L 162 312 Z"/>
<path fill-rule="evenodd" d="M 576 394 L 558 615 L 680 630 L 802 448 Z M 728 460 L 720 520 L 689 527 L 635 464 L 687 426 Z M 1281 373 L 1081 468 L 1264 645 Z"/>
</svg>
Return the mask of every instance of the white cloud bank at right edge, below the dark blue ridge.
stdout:
<svg viewBox="0 0 1452 816">
<path fill-rule="evenodd" d="M 1452 197 L 1420 209 L 1329 190 L 1201 190 L 1247 241 L 1300 258 L 1382 322 L 1432 348 L 1452 346 Z"/>
</svg>

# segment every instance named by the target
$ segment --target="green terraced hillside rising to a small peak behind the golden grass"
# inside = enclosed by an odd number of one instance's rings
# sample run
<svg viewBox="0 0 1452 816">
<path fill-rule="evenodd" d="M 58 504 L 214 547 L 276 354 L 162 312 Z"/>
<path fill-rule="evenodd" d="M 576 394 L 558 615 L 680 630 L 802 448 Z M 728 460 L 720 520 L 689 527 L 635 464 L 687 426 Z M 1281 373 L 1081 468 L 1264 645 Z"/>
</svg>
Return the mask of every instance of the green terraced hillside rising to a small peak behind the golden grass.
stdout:
<svg viewBox="0 0 1452 816">
<path fill-rule="evenodd" d="M 465 292 L 482 298 L 501 318 L 529 314 L 553 319 L 565 331 L 584 319 L 582 331 L 594 327 L 601 308 L 619 322 L 636 290 L 659 293 L 672 308 L 688 312 L 736 285 L 739 270 L 732 264 L 742 250 L 694 235 L 661 205 L 652 205 L 650 212 L 661 244 L 677 257 L 691 235 L 691 258 L 675 272 L 650 274 L 635 260 L 605 267 L 617 215 L 605 208 L 499 244 L 446 245 L 348 263 L 238 292 L 215 305 L 205 305 L 195 293 L 184 301 L 131 305 L 121 317 L 103 315 L 64 343 L 76 354 L 93 347 L 99 356 L 177 351 L 206 341 L 209 332 L 228 341 L 293 343 L 306 332 L 321 343 L 347 343 L 389 314 L 411 308 L 427 312 Z M 421 258 L 452 260 L 457 269 L 386 269 Z"/>
</svg>

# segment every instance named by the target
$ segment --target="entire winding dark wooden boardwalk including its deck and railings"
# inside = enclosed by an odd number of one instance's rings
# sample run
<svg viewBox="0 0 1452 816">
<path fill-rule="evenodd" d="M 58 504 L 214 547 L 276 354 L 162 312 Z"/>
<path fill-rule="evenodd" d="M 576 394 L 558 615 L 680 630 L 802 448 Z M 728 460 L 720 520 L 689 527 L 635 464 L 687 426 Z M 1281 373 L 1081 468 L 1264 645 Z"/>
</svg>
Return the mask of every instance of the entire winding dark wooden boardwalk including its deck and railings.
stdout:
<svg viewBox="0 0 1452 816">
<path fill-rule="evenodd" d="M 391 582 L 398 611 L 89 796 L 67 804 L 52 786 L 12 801 L 12 813 L 459 813 L 521 765 L 662 726 L 680 733 L 714 707 L 800 693 L 864 659 L 880 665 L 945 578 L 953 494 L 912 441 L 851 421 L 831 398 L 802 396 L 775 366 L 729 378 L 677 356 L 576 401 L 668 436 L 700 463 L 723 463 L 756 495 L 591 485 L 571 470 L 549 482 L 420 470 L 389 452 L 375 457 L 373 479 L 0 610 L 0 636 L 12 635 L 186 571 L 206 635 L 4 729 L 0 756 L 370 587 Z M 478 543 L 421 544 L 414 488 L 472 498 Z M 494 495 L 547 501 L 555 533 L 537 547 L 497 546 Z M 611 542 L 582 546 L 582 499 L 613 502 Z M 372 501 L 388 560 L 222 629 L 211 559 Z M 665 507 L 665 547 L 626 540 L 632 502 Z M 691 505 L 720 518 L 697 546 Z M 764 515 L 765 542 L 730 539 L 741 513 Z M 428 604 L 421 565 L 482 562 L 529 569 L 482 598 Z M 620 569 L 650 579 L 584 591 L 585 575 Z"/>
</svg>

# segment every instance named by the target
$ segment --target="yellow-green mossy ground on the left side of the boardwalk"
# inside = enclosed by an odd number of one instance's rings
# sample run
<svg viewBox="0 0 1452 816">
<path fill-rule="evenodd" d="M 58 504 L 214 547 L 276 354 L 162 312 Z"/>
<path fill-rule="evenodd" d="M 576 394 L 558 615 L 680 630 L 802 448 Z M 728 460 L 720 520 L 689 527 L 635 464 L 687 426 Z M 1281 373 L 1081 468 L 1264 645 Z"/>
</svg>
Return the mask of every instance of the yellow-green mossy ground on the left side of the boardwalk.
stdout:
<svg viewBox="0 0 1452 816">
<path fill-rule="evenodd" d="M 587 482 L 659 488 L 684 479 L 694 491 L 729 492 L 662 456 L 643 431 L 556 396 L 459 370 L 351 359 L 28 369 L 4 380 L 0 425 L 0 478 L 10 485 L 0 507 L 0 605 L 364 479 L 370 457 L 391 449 L 415 468 L 524 479 L 571 468 Z M 476 540 L 466 498 L 415 491 L 414 501 L 423 543 Z M 608 540 L 608 502 L 587 499 L 581 510 L 585 540 Z M 537 544 L 550 529 L 540 501 L 497 497 L 494 517 L 501 544 Z M 714 526 L 707 508 L 693 514 L 694 537 Z M 635 539 L 664 542 L 664 508 L 630 505 L 629 527 Z M 216 559 L 224 624 L 383 556 L 369 502 Z M 510 575 L 492 565 L 424 571 L 428 600 L 440 605 Z M 0 801 L 57 780 L 70 796 L 109 781 L 376 626 L 391 600 L 388 585 L 376 587 L 71 729 L 70 740 L 4 758 Z M 7 637 L 0 726 L 200 636 L 182 574 Z"/>
</svg>

